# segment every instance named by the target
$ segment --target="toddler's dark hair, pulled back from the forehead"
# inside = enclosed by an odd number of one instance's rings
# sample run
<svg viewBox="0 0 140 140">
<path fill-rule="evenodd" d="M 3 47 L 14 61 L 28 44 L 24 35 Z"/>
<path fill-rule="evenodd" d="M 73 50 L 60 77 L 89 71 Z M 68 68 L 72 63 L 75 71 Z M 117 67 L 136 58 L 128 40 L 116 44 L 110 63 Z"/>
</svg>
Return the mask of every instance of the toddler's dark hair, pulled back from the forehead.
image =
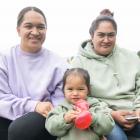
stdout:
<svg viewBox="0 0 140 140">
<path fill-rule="evenodd" d="M 68 69 L 64 76 L 63 76 L 63 91 L 64 91 L 64 87 L 66 84 L 66 79 L 69 75 L 79 75 L 81 77 L 83 77 L 83 79 L 85 80 L 85 83 L 88 87 L 88 91 L 90 92 L 90 76 L 87 70 L 84 70 L 82 68 L 72 68 L 72 69 Z"/>
</svg>

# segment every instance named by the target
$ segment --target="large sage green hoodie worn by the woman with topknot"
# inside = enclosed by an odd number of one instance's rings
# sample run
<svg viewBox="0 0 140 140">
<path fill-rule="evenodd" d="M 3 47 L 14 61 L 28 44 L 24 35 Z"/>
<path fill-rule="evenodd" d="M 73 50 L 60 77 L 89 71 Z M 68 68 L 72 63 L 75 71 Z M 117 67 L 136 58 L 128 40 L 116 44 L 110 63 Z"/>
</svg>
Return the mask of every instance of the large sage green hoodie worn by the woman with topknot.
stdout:
<svg viewBox="0 0 140 140">
<path fill-rule="evenodd" d="M 140 59 L 135 52 L 114 47 L 107 57 L 97 55 L 91 41 L 80 46 L 72 67 L 86 69 L 91 78 L 91 96 L 113 110 L 140 109 Z"/>
</svg>

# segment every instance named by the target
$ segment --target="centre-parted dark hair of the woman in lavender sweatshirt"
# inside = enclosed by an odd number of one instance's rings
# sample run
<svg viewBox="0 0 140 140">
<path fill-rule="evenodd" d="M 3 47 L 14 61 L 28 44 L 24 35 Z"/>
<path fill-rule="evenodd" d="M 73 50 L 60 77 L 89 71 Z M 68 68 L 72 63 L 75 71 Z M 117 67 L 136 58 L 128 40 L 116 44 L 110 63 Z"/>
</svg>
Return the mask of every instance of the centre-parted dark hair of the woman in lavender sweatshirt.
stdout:
<svg viewBox="0 0 140 140">
<path fill-rule="evenodd" d="M 44 13 L 37 7 L 25 7 L 25 8 L 23 8 L 20 11 L 20 13 L 18 14 L 18 17 L 17 17 L 17 27 L 19 27 L 21 25 L 21 23 L 23 22 L 24 15 L 29 11 L 35 11 L 35 12 L 41 14 L 44 18 L 44 21 L 45 21 L 45 24 L 46 24 L 46 27 L 47 27 L 46 17 L 44 15 Z"/>
</svg>

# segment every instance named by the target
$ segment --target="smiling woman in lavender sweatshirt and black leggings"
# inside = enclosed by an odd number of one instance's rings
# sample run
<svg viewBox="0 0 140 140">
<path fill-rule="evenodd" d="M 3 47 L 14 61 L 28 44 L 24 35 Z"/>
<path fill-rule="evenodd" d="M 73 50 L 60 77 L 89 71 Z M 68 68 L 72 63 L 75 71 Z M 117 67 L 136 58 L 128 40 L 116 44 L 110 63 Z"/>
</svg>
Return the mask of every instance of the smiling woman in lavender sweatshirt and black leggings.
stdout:
<svg viewBox="0 0 140 140">
<path fill-rule="evenodd" d="M 67 64 L 42 47 L 46 31 L 40 9 L 21 10 L 17 19 L 20 44 L 0 57 L 1 140 L 7 139 L 7 133 L 8 140 L 55 140 L 45 130 L 45 117 L 63 100 L 61 84 Z"/>
</svg>

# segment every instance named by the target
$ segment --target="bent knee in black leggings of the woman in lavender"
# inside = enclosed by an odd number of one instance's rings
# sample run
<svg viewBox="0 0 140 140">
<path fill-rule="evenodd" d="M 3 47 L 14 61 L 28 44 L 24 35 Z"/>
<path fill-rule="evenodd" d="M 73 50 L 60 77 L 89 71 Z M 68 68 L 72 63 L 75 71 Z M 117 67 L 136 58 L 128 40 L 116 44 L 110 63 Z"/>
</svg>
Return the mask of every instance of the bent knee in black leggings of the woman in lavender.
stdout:
<svg viewBox="0 0 140 140">
<path fill-rule="evenodd" d="M 45 120 L 36 112 L 14 120 L 8 128 L 8 140 L 56 140 L 46 131 Z"/>
</svg>

